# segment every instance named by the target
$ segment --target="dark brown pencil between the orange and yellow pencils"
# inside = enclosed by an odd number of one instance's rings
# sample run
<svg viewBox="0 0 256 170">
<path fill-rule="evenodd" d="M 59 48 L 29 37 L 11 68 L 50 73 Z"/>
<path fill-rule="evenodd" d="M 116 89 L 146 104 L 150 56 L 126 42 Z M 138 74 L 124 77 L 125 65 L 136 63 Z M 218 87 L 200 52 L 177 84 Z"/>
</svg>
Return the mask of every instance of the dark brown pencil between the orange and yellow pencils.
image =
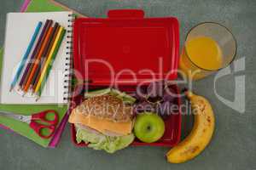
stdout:
<svg viewBox="0 0 256 170">
<path fill-rule="evenodd" d="M 44 63 L 45 63 L 46 56 L 49 53 L 50 43 L 53 42 L 53 40 L 54 40 L 55 31 L 58 28 L 58 26 L 59 26 L 59 24 L 57 22 L 55 22 L 55 26 L 53 27 L 53 31 L 51 32 L 51 34 L 49 36 L 49 41 L 46 43 L 46 46 L 44 48 L 44 52 L 42 54 L 41 61 L 39 62 L 38 68 L 35 71 L 35 76 L 32 77 L 31 87 L 33 87 L 37 83 L 37 80 L 39 79 L 38 77 L 40 77 L 40 74 L 41 74 L 41 71 L 42 71 L 41 68 L 43 68 L 42 65 L 44 65 Z"/>
</svg>

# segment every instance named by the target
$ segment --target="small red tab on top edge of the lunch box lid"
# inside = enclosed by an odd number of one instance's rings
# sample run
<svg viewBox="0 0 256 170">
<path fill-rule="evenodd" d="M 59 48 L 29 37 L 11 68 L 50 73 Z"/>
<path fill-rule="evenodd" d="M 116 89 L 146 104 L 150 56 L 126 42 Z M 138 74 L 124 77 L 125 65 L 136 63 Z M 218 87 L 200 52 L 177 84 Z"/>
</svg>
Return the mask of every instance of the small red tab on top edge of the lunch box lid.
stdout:
<svg viewBox="0 0 256 170">
<path fill-rule="evenodd" d="M 113 9 L 108 11 L 108 18 L 143 18 L 141 9 Z"/>
</svg>

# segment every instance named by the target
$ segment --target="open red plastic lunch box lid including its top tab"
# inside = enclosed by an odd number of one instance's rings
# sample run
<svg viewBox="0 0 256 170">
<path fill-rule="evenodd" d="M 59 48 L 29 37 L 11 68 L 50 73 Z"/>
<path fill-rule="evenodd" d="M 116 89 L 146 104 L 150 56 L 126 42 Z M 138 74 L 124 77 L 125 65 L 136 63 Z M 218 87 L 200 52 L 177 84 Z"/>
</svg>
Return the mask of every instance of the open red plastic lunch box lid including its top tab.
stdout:
<svg viewBox="0 0 256 170">
<path fill-rule="evenodd" d="M 178 21 L 144 18 L 143 10 L 110 10 L 108 18 L 79 18 L 73 27 L 73 64 L 91 84 L 138 84 L 177 77 Z"/>
</svg>

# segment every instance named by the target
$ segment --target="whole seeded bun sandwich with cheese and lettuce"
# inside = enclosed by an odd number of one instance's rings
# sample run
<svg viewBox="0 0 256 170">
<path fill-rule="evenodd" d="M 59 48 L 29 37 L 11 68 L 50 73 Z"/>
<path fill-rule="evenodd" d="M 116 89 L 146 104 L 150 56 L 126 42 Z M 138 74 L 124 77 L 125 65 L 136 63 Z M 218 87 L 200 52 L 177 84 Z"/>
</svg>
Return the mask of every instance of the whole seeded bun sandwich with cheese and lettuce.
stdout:
<svg viewBox="0 0 256 170">
<path fill-rule="evenodd" d="M 76 127 L 77 142 L 84 141 L 95 150 L 113 153 L 134 140 L 133 103 L 136 99 L 116 89 L 85 94 L 85 100 L 73 109 L 69 122 Z"/>
</svg>

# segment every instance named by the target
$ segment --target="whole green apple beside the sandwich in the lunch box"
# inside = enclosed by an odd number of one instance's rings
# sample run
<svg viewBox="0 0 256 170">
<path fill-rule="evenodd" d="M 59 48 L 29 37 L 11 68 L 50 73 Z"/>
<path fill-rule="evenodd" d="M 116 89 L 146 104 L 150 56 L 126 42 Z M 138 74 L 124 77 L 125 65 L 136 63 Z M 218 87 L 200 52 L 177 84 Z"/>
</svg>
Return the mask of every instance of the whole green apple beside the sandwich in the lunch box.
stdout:
<svg viewBox="0 0 256 170">
<path fill-rule="evenodd" d="M 143 142 L 155 142 L 165 133 L 165 122 L 155 113 L 141 113 L 136 117 L 134 133 L 137 139 L 140 139 Z"/>
</svg>

